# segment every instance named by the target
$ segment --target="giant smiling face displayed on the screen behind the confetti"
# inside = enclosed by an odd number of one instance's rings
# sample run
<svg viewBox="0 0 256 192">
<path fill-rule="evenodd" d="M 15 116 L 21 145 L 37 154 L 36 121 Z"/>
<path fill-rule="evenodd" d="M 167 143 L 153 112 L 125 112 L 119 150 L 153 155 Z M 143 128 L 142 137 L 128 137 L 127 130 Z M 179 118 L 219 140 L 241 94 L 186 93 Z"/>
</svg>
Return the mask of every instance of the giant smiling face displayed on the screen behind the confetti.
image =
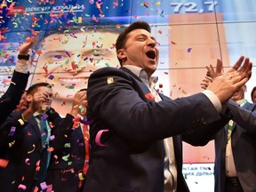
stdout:
<svg viewBox="0 0 256 192">
<path fill-rule="evenodd" d="M 44 39 L 33 84 L 52 84 L 53 97 L 72 100 L 87 86 L 88 77 L 97 68 L 116 67 L 115 40 L 112 32 L 52 34 Z"/>
</svg>

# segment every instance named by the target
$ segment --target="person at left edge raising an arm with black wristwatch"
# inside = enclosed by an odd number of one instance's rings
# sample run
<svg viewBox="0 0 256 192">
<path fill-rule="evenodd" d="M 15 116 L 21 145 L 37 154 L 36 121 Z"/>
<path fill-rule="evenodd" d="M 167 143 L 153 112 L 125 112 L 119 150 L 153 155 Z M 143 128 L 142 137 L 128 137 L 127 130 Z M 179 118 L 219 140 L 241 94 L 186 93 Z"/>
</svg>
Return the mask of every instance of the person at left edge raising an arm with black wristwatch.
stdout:
<svg viewBox="0 0 256 192">
<path fill-rule="evenodd" d="M 17 107 L 21 95 L 26 89 L 29 76 L 28 52 L 36 43 L 37 36 L 38 35 L 36 34 L 35 36 L 27 37 L 26 41 L 20 45 L 18 61 L 12 74 L 12 83 L 0 99 L 0 125 L 4 123 L 7 116 L 9 116 Z M 8 183 L 13 181 L 13 167 L 8 164 L 8 156 L 6 156 L 6 148 L 4 148 L 3 142 L 4 140 L 2 139 L 2 136 L 0 136 L 0 188 L 12 190 L 11 188 L 13 185 L 10 186 Z"/>
</svg>

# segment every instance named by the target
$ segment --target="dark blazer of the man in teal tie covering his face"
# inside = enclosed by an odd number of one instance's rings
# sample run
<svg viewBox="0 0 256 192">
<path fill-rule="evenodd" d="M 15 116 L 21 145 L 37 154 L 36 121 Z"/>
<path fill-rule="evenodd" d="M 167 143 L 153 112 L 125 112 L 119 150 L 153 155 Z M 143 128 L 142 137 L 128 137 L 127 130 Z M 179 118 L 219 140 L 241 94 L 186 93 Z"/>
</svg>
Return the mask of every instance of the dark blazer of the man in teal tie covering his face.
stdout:
<svg viewBox="0 0 256 192">
<path fill-rule="evenodd" d="M 48 111 L 47 120 L 55 123 L 55 119 L 60 116 L 53 109 Z M 38 161 L 42 152 L 41 132 L 36 123 L 36 118 L 32 116 L 28 123 L 20 124 L 22 111 L 12 112 L 0 127 L 0 134 L 7 140 L 5 144 L 9 146 L 7 151 L 9 155 L 9 164 L 14 167 L 15 174 L 15 190 L 19 186 L 26 187 L 26 190 L 18 189 L 18 191 L 32 191 L 36 186 Z M 11 130 L 15 127 L 15 132 Z M 12 185 L 12 184 L 10 184 Z"/>
</svg>

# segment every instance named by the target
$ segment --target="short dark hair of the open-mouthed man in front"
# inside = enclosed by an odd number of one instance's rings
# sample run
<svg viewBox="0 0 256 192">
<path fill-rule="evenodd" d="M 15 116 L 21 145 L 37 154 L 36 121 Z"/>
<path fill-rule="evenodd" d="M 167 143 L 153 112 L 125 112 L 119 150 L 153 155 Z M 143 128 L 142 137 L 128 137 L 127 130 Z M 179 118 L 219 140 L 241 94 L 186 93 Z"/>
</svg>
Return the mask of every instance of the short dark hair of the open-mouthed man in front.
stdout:
<svg viewBox="0 0 256 192">
<path fill-rule="evenodd" d="M 128 26 L 127 28 L 124 28 L 124 31 L 117 37 L 116 39 L 116 52 L 122 48 L 124 48 L 124 44 L 126 43 L 127 40 L 127 35 L 132 31 L 135 30 L 137 28 L 142 28 L 147 30 L 149 33 L 151 33 L 151 28 L 148 25 L 147 22 L 139 20 L 136 22 L 133 22 L 130 26 Z M 120 64 L 122 65 L 122 60 L 119 59 Z"/>
</svg>

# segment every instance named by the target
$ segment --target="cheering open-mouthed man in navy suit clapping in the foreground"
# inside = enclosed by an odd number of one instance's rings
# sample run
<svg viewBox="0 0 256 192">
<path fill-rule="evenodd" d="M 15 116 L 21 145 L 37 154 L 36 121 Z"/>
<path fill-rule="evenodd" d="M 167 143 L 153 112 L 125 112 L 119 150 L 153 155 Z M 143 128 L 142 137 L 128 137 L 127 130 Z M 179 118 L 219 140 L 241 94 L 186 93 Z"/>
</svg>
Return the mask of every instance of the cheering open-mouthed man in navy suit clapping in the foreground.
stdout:
<svg viewBox="0 0 256 192">
<path fill-rule="evenodd" d="M 248 81 L 252 63 L 245 59 L 237 71 L 242 57 L 206 91 L 171 100 L 154 90 L 159 52 L 148 23 L 125 28 L 116 52 L 122 68 L 100 68 L 88 82 L 92 148 L 84 192 L 188 191 L 181 172 L 183 134 L 188 140 L 186 132 L 212 132 L 212 124 L 230 117 L 222 104 Z"/>
</svg>

